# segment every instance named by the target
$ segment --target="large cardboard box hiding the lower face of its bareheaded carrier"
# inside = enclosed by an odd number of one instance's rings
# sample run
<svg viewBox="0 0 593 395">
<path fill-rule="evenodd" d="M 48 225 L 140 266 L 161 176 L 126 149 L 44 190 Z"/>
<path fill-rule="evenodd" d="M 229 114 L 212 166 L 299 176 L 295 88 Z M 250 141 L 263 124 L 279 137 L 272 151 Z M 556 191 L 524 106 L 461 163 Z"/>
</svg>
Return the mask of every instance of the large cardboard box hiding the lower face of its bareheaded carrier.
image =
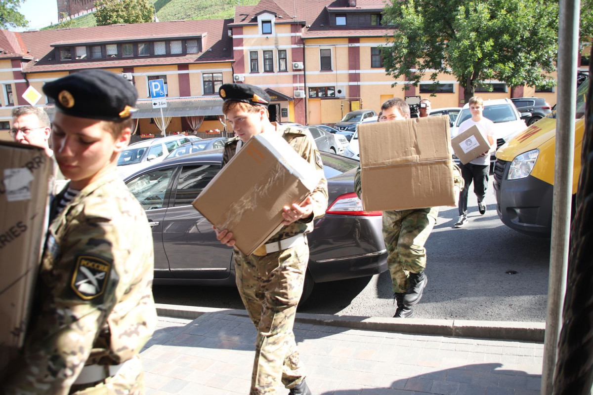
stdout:
<svg viewBox="0 0 593 395">
<path fill-rule="evenodd" d="M 455 204 L 447 117 L 360 124 L 362 207 Z"/>
</svg>

